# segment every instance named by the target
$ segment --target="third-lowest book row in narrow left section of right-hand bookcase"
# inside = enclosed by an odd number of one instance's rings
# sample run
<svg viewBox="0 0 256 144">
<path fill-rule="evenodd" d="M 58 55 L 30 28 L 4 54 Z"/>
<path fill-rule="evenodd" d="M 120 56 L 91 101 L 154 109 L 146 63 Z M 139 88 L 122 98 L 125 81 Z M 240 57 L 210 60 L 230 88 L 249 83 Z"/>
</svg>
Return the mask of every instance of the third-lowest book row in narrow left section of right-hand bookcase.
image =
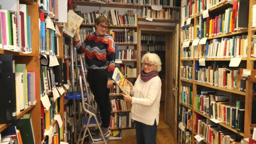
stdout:
<svg viewBox="0 0 256 144">
<path fill-rule="evenodd" d="M 191 86 L 181 86 L 180 87 L 180 96 L 181 96 L 181 103 L 186 104 L 192 107 L 192 87 Z"/>
</svg>

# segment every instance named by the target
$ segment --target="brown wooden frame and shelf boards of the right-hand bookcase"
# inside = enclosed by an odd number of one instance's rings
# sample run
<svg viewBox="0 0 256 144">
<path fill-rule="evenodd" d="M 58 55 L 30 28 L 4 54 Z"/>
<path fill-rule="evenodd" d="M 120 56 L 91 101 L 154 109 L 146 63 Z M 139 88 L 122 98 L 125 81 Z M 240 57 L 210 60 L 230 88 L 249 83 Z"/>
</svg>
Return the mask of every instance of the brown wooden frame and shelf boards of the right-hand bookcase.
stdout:
<svg viewBox="0 0 256 144">
<path fill-rule="evenodd" d="M 233 36 L 241 36 L 241 35 L 247 35 L 247 57 L 246 58 L 241 58 L 241 60 L 243 60 L 243 63 L 246 62 L 246 69 L 253 69 L 253 61 L 256 60 L 256 58 L 251 57 L 250 55 L 250 47 L 251 47 L 251 36 L 255 35 L 255 31 L 256 28 L 251 28 L 250 27 L 250 23 L 251 23 L 251 13 L 252 13 L 252 5 L 256 4 L 255 1 L 251 1 L 249 2 L 249 18 L 248 18 L 248 28 L 247 29 L 241 29 L 239 31 L 235 31 L 235 32 L 230 32 L 227 34 L 221 34 L 221 35 L 215 35 L 215 36 L 211 36 L 208 37 L 207 40 L 213 40 L 213 39 L 220 39 L 220 38 L 226 38 L 226 37 L 233 37 Z M 209 16 L 210 17 L 215 17 L 218 16 L 219 14 L 223 14 L 225 12 L 225 9 L 228 9 L 230 7 L 233 7 L 233 4 L 230 4 L 228 1 L 221 3 L 217 6 L 214 6 L 212 8 L 210 8 L 208 10 L 209 12 Z M 182 11 L 181 11 L 182 13 Z M 181 14 L 182 15 L 182 14 Z M 191 23 L 194 26 L 194 38 L 196 37 L 196 26 L 199 23 L 199 16 L 201 16 L 202 13 L 200 14 L 196 14 L 194 16 L 191 17 Z M 205 20 L 205 19 L 204 19 Z M 182 21 L 182 20 L 180 20 Z M 186 21 L 186 20 L 185 20 Z M 180 30 L 180 34 L 183 34 L 182 29 Z M 181 38 L 181 37 L 180 37 Z M 191 45 L 191 43 L 190 43 Z M 182 47 L 182 43 L 180 44 L 180 47 Z M 193 80 L 192 82 L 189 81 L 185 81 L 184 79 L 180 78 L 180 86 L 191 86 L 192 88 L 192 107 L 189 107 L 186 104 L 181 104 L 182 106 L 186 107 L 186 108 L 192 108 L 192 141 L 195 141 L 194 136 L 197 135 L 197 132 L 195 131 L 195 124 L 197 124 L 197 121 L 195 121 L 195 114 L 199 114 L 204 116 L 207 119 L 210 119 L 210 117 L 208 115 L 203 114 L 202 112 L 199 112 L 198 110 L 195 109 L 195 105 L 196 105 L 196 98 L 195 95 L 198 94 L 198 86 L 200 86 L 200 88 L 207 89 L 209 90 L 209 88 L 211 90 L 215 90 L 218 91 L 218 94 L 221 95 L 221 93 L 224 93 L 224 95 L 228 95 L 227 92 L 230 92 L 231 94 L 231 98 L 232 101 L 236 101 L 236 100 L 245 100 L 245 115 L 244 115 L 244 132 L 239 132 L 236 129 L 233 129 L 230 126 L 227 126 L 224 123 L 218 123 L 218 125 L 220 125 L 221 127 L 224 127 L 227 130 L 230 130 L 231 132 L 234 132 L 238 135 L 243 136 L 244 138 L 248 138 L 251 134 L 250 134 L 250 124 L 251 124 L 251 116 L 252 116 L 252 95 L 256 95 L 256 93 L 252 92 L 253 89 L 253 83 L 246 81 L 246 92 L 241 92 L 239 90 L 233 90 L 233 89 L 226 89 L 226 88 L 221 88 L 218 86 L 212 86 L 209 84 L 203 84 L 200 82 L 195 82 L 195 63 L 198 62 L 199 58 L 191 58 L 191 59 L 184 59 L 184 58 L 180 58 L 180 66 L 186 66 L 186 65 L 192 65 L 193 66 Z M 218 63 L 221 63 L 221 61 L 230 61 L 231 58 L 206 58 L 206 61 L 218 61 Z M 191 64 L 192 61 L 192 64 Z M 180 69 L 181 72 L 181 69 Z M 249 90 L 248 90 L 249 89 Z M 179 103 L 181 103 L 181 99 L 179 100 Z M 204 139 L 203 140 L 205 143 L 207 143 L 207 141 Z M 208 144 L 208 143 L 207 143 Z"/>
</svg>

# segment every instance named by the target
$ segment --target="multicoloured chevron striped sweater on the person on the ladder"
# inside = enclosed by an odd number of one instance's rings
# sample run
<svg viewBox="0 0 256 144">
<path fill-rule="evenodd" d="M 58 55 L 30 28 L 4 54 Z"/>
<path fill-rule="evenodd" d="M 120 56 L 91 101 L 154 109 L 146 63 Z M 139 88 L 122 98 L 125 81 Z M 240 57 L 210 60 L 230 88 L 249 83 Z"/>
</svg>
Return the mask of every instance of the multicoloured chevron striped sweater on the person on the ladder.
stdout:
<svg viewBox="0 0 256 144">
<path fill-rule="evenodd" d="M 87 69 L 108 69 L 108 79 L 112 78 L 116 49 L 113 37 L 108 34 L 96 36 L 92 32 L 85 38 L 83 45 L 80 40 L 75 41 L 74 44 L 79 54 L 85 52 Z"/>
</svg>

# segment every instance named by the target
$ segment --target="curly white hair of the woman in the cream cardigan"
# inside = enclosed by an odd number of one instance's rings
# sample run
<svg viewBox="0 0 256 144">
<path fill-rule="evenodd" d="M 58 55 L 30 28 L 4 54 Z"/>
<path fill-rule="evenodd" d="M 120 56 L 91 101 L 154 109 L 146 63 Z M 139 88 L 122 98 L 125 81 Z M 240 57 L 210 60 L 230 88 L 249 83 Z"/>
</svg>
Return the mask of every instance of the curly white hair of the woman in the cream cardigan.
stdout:
<svg viewBox="0 0 256 144">
<path fill-rule="evenodd" d="M 157 54 L 147 52 L 145 55 L 143 55 L 141 63 L 144 63 L 145 59 L 148 59 L 148 61 L 150 61 L 152 64 L 157 66 L 157 69 L 156 69 L 157 72 L 160 72 L 162 70 L 161 68 L 162 63 Z"/>
</svg>

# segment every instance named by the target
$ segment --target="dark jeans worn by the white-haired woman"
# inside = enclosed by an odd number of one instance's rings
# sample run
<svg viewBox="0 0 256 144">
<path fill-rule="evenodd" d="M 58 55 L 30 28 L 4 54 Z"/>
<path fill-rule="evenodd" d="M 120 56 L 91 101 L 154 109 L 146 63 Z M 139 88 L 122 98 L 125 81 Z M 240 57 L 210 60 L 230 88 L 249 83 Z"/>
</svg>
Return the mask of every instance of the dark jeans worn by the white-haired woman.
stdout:
<svg viewBox="0 0 256 144">
<path fill-rule="evenodd" d="M 157 144 L 157 121 L 154 125 L 143 124 L 135 121 L 137 144 Z"/>
</svg>

